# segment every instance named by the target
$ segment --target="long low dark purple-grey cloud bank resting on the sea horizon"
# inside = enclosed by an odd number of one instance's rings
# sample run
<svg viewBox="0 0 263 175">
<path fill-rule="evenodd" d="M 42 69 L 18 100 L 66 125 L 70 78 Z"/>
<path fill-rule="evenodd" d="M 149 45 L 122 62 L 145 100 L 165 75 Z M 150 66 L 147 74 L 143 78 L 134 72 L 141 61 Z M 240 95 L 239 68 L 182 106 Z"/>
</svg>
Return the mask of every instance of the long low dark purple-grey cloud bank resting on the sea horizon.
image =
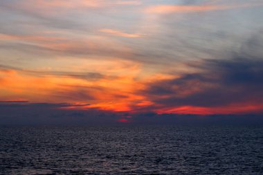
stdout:
<svg viewBox="0 0 263 175">
<path fill-rule="evenodd" d="M 0 102 L 0 125 L 263 125 L 261 114 L 202 116 L 60 109 L 69 105 Z"/>
</svg>

